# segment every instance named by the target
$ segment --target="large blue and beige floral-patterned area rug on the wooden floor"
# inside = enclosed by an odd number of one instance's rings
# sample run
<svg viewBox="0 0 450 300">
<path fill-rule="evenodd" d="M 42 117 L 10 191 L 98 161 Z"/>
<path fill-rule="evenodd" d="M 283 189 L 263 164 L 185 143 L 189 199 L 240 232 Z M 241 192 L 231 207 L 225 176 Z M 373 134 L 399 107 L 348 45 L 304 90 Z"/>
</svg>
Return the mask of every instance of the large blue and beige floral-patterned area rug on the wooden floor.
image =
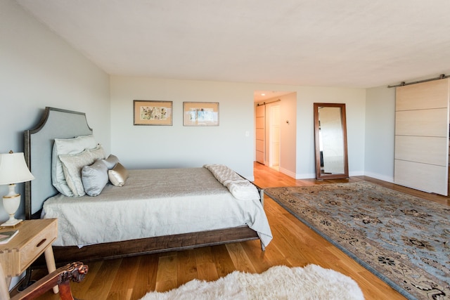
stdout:
<svg viewBox="0 0 450 300">
<path fill-rule="evenodd" d="M 450 207 L 367 182 L 266 188 L 408 299 L 450 299 Z"/>
</svg>

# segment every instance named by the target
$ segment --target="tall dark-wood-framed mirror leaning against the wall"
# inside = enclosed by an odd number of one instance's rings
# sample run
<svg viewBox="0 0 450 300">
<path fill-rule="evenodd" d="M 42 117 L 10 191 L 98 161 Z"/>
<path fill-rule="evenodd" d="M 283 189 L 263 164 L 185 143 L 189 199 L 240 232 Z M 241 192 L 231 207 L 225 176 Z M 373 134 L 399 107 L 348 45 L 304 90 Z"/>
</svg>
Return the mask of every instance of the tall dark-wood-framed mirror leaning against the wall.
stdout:
<svg viewBox="0 0 450 300">
<path fill-rule="evenodd" d="M 316 178 L 347 178 L 345 104 L 314 103 Z"/>
</svg>

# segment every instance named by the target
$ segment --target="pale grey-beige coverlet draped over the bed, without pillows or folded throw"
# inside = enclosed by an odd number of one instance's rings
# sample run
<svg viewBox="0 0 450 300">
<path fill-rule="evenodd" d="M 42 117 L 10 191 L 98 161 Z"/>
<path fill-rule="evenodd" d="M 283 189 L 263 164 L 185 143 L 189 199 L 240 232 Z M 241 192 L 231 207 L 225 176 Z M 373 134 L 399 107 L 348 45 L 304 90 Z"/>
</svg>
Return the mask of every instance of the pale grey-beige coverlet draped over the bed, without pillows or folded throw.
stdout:
<svg viewBox="0 0 450 300">
<path fill-rule="evenodd" d="M 262 244 L 272 239 L 259 200 L 238 200 L 205 168 L 129 170 L 122 187 L 108 184 L 97 197 L 56 195 L 44 218 L 58 218 L 55 246 L 248 225 Z"/>
</svg>

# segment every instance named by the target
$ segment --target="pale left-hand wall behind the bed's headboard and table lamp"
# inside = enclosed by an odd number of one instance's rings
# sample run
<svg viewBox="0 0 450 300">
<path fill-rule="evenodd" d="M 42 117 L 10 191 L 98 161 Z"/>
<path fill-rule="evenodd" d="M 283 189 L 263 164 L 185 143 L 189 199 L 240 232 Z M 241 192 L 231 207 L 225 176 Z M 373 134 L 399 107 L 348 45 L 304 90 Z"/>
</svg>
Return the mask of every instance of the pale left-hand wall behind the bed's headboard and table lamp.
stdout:
<svg viewBox="0 0 450 300">
<path fill-rule="evenodd" d="M 24 151 L 23 131 L 36 126 L 46 106 L 86 112 L 94 135 L 110 149 L 108 74 L 15 1 L 0 1 L 0 49 L 0 153 Z M 7 190 L 0 185 L 0 195 Z M 18 191 L 24 195 L 23 183 Z M 24 215 L 22 199 L 16 216 Z"/>
</svg>

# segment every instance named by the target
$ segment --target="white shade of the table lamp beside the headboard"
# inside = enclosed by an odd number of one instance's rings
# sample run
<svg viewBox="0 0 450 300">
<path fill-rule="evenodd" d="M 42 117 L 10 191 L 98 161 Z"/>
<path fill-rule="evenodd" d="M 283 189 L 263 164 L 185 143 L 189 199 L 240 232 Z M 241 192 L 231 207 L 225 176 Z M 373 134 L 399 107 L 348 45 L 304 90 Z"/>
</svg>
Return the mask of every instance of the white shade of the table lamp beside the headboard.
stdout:
<svg viewBox="0 0 450 300">
<path fill-rule="evenodd" d="M 0 154 L 0 185 L 31 181 L 31 174 L 23 152 Z"/>
</svg>

